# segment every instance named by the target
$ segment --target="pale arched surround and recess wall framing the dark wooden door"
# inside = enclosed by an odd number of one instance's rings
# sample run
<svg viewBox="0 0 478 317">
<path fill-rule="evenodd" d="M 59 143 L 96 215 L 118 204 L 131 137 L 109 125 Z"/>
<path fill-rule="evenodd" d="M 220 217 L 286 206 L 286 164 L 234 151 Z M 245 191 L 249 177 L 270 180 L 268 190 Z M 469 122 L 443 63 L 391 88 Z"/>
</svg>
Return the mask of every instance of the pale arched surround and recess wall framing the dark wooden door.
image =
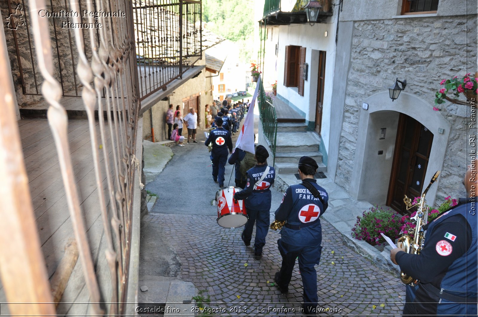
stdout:
<svg viewBox="0 0 478 317">
<path fill-rule="evenodd" d="M 400 115 L 412 117 L 434 136 L 424 182 L 430 180 L 436 170 L 442 169 L 450 125 L 440 113 L 433 111 L 431 104 L 412 94 L 402 92 L 400 98 L 392 102 L 389 92 L 384 91 L 363 102 L 369 107 L 368 110 L 360 110 L 355 158 L 351 158 L 353 171 L 350 194 L 357 200 L 385 205 Z M 386 129 L 384 138 L 380 138 L 382 129 Z M 429 205 L 435 202 L 437 187 L 432 186 L 427 194 Z"/>
</svg>

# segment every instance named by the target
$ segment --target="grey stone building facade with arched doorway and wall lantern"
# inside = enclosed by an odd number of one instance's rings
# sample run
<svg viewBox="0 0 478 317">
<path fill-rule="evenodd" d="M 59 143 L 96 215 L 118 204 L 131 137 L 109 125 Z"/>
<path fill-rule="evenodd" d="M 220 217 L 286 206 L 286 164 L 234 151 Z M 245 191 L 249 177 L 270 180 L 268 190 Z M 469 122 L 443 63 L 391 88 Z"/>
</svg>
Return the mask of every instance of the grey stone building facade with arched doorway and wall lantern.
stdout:
<svg viewBox="0 0 478 317">
<path fill-rule="evenodd" d="M 405 134 L 399 136 L 400 117 L 411 117 L 433 134 L 427 164 L 415 162 L 415 171 L 420 168 L 423 175 L 413 180 L 424 189 L 441 170 L 438 186 L 427 195 L 428 204 L 465 195 L 467 135 L 476 135 L 476 128 L 470 130 L 467 123 L 475 110 L 449 102 L 433 110 L 442 79 L 478 70 L 477 4 L 458 2 L 440 0 L 436 13 L 400 15 L 402 0 L 344 0 L 330 123 L 341 128 L 331 131 L 330 142 L 336 146 L 330 147 L 328 172 L 354 198 L 390 203 L 392 174 L 399 173 L 397 165 L 406 160 L 395 158 L 394 163 L 397 139 L 419 142 L 413 133 L 402 131 Z M 406 87 L 392 101 L 388 87 L 396 78 L 406 80 Z"/>
</svg>

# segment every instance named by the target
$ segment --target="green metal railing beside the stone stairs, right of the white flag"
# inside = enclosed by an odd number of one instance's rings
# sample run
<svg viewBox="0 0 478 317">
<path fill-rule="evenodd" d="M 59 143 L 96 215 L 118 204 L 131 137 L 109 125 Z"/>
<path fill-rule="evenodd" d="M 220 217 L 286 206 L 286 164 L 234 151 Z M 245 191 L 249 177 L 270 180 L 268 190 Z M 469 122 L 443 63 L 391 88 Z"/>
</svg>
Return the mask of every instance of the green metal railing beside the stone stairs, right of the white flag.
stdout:
<svg viewBox="0 0 478 317">
<path fill-rule="evenodd" d="M 262 80 L 259 86 L 258 105 L 259 105 L 259 118 L 262 122 L 262 131 L 264 131 L 265 137 L 271 143 L 272 166 L 275 164 L 275 148 L 277 142 L 277 115 L 275 113 L 275 107 L 272 106 L 267 99 L 270 98 L 264 91 Z"/>
</svg>

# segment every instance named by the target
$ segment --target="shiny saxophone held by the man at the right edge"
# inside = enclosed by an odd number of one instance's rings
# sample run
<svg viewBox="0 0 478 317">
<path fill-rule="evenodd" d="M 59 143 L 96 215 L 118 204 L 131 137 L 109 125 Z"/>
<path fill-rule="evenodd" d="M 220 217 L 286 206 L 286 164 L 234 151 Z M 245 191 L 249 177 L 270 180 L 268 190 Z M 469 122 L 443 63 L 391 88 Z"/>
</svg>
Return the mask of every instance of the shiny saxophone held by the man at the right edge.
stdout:
<svg viewBox="0 0 478 317">
<path fill-rule="evenodd" d="M 422 193 L 422 196 L 420 196 L 420 202 L 412 206 L 412 200 L 408 198 L 407 195 L 405 195 L 405 198 L 403 198 L 403 202 L 407 206 L 407 210 L 415 207 L 416 205 L 419 205 L 417 213 L 412 218 L 412 220 L 416 222 L 415 232 L 413 233 L 413 236 L 402 235 L 397 241 L 397 246 L 399 248 L 402 248 L 403 251 L 405 251 L 406 253 L 420 254 L 420 252 L 422 251 L 426 233 L 426 231 L 423 230 L 423 226 L 428 223 L 428 211 L 426 210 L 425 195 L 430 189 L 430 186 L 432 186 L 432 184 L 438 178 L 438 175 L 440 175 L 439 170 L 436 171 L 435 175 L 430 181 L 430 184 L 428 184 L 427 188 Z M 411 286 L 415 286 L 418 283 L 418 280 L 414 279 L 412 276 L 405 274 L 403 271 L 400 272 L 400 279 L 403 283 L 409 284 Z"/>
</svg>

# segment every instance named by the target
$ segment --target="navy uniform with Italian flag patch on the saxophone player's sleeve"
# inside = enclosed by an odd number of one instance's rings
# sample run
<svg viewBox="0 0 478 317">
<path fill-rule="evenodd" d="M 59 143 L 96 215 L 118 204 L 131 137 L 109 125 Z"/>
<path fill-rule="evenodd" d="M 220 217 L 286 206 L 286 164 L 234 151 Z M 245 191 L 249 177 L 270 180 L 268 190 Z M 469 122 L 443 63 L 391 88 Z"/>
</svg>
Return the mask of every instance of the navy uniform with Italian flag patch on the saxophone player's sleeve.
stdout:
<svg viewBox="0 0 478 317">
<path fill-rule="evenodd" d="M 475 201 L 475 206 L 470 200 Z M 420 254 L 395 255 L 401 270 L 420 281 L 415 287 L 407 285 L 404 316 L 477 315 L 476 201 L 477 198 L 462 199 L 453 209 L 425 225 Z"/>
</svg>

